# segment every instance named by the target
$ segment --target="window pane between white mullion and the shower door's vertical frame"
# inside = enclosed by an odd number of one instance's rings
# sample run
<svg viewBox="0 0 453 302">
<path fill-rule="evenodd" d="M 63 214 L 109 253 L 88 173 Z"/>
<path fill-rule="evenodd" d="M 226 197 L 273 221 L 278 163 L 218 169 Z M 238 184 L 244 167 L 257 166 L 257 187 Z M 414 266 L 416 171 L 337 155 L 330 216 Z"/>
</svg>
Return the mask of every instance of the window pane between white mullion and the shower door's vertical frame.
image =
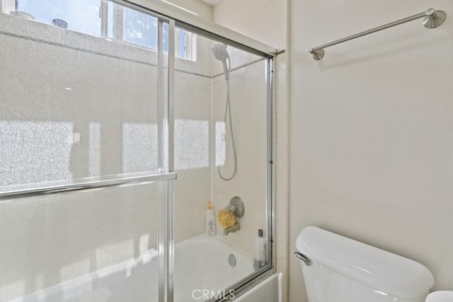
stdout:
<svg viewBox="0 0 453 302">
<path fill-rule="evenodd" d="M 125 8 L 125 42 L 157 48 L 157 18 Z"/>
</svg>

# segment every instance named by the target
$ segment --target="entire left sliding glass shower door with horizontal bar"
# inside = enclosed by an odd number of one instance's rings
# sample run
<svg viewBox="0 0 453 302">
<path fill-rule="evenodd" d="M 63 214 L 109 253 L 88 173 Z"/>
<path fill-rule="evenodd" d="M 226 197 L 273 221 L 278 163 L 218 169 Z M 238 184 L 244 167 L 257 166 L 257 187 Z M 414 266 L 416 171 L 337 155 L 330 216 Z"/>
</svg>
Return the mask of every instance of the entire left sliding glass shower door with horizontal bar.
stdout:
<svg viewBox="0 0 453 302">
<path fill-rule="evenodd" d="M 0 14 L 0 301 L 163 301 L 168 19 L 16 11 Z"/>
</svg>

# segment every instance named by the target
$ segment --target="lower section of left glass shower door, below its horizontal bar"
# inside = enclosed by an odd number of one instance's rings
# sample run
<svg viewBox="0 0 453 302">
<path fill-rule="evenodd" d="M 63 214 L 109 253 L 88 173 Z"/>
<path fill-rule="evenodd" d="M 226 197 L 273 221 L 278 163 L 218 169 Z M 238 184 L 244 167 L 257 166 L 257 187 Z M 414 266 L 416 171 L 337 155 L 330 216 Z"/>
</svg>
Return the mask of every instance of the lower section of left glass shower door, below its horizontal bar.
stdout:
<svg viewBox="0 0 453 302">
<path fill-rule="evenodd" d="M 0 301 L 159 301 L 154 183 L 0 204 Z"/>
</svg>

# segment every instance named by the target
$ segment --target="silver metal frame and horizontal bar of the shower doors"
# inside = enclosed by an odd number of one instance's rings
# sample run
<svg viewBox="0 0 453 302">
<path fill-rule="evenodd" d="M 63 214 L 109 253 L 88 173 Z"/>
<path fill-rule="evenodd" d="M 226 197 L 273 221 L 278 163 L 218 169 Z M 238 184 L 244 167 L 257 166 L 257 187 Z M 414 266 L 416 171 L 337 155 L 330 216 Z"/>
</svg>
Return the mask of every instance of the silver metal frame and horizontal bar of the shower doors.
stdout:
<svg viewBox="0 0 453 302">
<path fill-rule="evenodd" d="M 1 4 L 5 1 L 0 0 Z M 273 112 L 273 99 L 274 99 L 274 64 L 275 53 L 263 51 L 265 47 L 260 50 L 253 45 L 256 41 L 250 39 L 250 42 L 236 42 L 231 38 L 222 37 L 214 30 L 206 30 L 198 28 L 182 20 L 176 20 L 171 16 L 165 16 L 159 12 L 153 11 L 150 8 L 139 6 L 132 1 L 124 0 L 110 0 L 116 4 L 133 8 L 134 10 L 147 13 L 151 16 L 158 18 L 158 136 L 159 136 L 159 174 L 146 175 L 139 178 L 118 178 L 112 180 L 99 180 L 91 182 L 80 182 L 71 185 L 62 185 L 56 187 L 45 187 L 35 190 L 25 190 L 17 192 L 4 192 L 0 193 L 0 202 L 13 202 L 15 199 L 25 197 L 36 197 L 40 195 L 50 196 L 52 194 L 62 194 L 68 192 L 80 192 L 87 190 L 103 190 L 111 187 L 122 187 L 125 185 L 142 185 L 151 182 L 159 183 L 159 302 L 173 302 L 174 301 L 174 181 L 177 178 L 174 172 L 174 80 L 175 80 L 175 28 L 183 28 L 190 30 L 193 33 L 210 37 L 213 40 L 224 42 L 228 45 L 236 47 L 240 50 L 256 54 L 266 60 L 265 83 L 267 92 L 267 239 L 268 239 L 268 265 L 262 267 L 245 279 L 233 284 L 229 287 L 235 291 L 235 294 L 240 294 L 241 291 L 246 291 L 258 284 L 262 279 L 267 278 L 270 274 L 275 273 L 275 228 L 274 228 L 274 212 L 275 212 L 275 164 L 274 164 L 274 112 Z M 1 8 L 4 8 L 2 6 Z M 3 11 L 3 10 L 2 10 Z M 164 54 L 164 24 L 168 23 L 168 54 Z M 242 37 L 242 41 L 244 38 Z M 167 64 L 164 64 L 167 62 Z M 165 81 L 167 76 L 167 81 Z M 229 289 L 226 289 L 228 291 Z M 217 301 L 222 301 L 218 299 Z"/>
</svg>

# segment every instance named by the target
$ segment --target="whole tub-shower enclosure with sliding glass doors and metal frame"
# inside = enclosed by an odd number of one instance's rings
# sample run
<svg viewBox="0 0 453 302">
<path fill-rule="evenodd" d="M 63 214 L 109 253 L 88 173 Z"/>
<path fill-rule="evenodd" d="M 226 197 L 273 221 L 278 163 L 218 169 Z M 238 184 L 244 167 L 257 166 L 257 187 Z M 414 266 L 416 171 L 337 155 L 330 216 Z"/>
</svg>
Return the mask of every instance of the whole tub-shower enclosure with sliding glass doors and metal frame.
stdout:
<svg viewBox="0 0 453 302">
<path fill-rule="evenodd" d="M 1 4 L 0 301 L 221 301 L 273 272 L 272 54 L 127 1 Z"/>
</svg>

